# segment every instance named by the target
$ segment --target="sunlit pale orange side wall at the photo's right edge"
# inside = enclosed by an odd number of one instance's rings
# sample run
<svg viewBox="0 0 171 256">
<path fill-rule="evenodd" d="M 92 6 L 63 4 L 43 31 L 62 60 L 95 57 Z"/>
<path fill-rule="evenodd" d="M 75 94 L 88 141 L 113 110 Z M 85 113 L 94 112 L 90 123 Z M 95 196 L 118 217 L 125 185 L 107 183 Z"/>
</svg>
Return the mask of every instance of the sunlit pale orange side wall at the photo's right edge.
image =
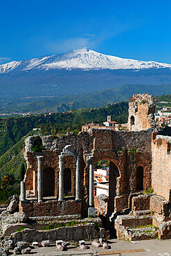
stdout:
<svg viewBox="0 0 171 256">
<path fill-rule="evenodd" d="M 171 199 L 170 143 L 171 136 L 157 135 L 152 141 L 152 188 L 167 201 Z"/>
</svg>

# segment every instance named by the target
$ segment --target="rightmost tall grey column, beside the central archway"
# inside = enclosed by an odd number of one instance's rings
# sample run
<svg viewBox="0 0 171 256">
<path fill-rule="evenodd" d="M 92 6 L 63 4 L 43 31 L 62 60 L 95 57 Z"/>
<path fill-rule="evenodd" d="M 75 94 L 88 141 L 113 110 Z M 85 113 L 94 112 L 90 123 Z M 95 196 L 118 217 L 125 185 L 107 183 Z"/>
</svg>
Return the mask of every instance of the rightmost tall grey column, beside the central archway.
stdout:
<svg viewBox="0 0 171 256">
<path fill-rule="evenodd" d="M 93 207 L 93 188 L 94 188 L 94 170 L 93 170 L 93 156 L 89 156 L 89 207 Z"/>
</svg>

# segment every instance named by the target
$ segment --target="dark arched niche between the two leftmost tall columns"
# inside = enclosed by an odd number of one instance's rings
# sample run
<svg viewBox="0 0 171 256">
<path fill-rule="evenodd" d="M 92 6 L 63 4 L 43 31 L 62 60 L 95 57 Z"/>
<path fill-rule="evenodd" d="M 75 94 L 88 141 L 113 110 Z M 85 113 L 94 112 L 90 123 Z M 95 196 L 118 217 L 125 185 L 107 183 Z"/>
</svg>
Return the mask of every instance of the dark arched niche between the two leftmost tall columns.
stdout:
<svg viewBox="0 0 171 256">
<path fill-rule="evenodd" d="M 43 171 L 43 196 L 55 195 L 55 171 L 48 167 Z"/>
</svg>

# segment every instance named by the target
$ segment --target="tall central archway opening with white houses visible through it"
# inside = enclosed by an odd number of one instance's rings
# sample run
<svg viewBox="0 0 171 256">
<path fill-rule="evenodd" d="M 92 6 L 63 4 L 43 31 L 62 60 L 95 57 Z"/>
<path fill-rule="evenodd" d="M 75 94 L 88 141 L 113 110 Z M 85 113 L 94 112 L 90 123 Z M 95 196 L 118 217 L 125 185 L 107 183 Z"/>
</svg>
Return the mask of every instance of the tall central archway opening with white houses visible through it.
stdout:
<svg viewBox="0 0 171 256">
<path fill-rule="evenodd" d="M 119 175 L 118 167 L 109 160 L 100 160 L 94 164 L 94 189 L 96 196 L 104 194 L 107 212 L 114 212 L 116 183 Z M 107 200 L 108 197 L 108 200 Z"/>
</svg>

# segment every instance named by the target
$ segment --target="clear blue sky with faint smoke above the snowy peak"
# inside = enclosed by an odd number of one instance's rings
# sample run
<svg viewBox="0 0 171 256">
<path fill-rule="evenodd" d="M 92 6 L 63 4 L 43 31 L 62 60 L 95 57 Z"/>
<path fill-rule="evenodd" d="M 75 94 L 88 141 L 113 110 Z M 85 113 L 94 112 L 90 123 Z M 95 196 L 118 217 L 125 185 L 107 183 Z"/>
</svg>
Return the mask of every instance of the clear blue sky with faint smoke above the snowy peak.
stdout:
<svg viewBox="0 0 171 256">
<path fill-rule="evenodd" d="M 171 64 L 171 2 L 0 1 L 0 63 L 85 46 Z"/>
</svg>

